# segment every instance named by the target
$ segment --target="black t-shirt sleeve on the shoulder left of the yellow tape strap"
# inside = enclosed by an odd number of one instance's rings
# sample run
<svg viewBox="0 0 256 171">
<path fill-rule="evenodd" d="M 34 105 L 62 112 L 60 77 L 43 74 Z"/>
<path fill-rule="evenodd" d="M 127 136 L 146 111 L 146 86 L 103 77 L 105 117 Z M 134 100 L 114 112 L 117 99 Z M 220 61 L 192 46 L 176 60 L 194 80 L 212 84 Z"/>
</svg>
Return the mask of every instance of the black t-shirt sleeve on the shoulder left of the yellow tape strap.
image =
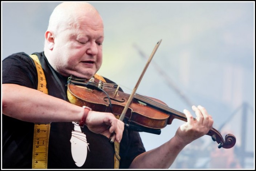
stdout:
<svg viewBox="0 0 256 171">
<path fill-rule="evenodd" d="M 5 58 L 2 62 L 2 83 L 37 89 L 37 71 L 31 57 L 21 52 Z"/>
</svg>

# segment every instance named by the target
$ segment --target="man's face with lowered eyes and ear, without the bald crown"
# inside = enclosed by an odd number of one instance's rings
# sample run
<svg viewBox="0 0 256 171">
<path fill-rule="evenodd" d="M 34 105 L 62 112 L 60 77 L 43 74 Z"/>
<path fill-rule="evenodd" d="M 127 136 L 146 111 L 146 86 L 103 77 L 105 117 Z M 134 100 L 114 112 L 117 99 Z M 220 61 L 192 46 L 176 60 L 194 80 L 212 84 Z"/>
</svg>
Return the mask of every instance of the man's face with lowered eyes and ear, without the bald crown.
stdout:
<svg viewBox="0 0 256 171">
<path fill-rule="evenodd" d="M 71 74 L 91 78 L 102 64 L 104 39 L 101 18 L 80 18 L 71 29 L 61 29 L 54 37 L 52 58 L 55 69 L 63 76 Z"/>
</svg>

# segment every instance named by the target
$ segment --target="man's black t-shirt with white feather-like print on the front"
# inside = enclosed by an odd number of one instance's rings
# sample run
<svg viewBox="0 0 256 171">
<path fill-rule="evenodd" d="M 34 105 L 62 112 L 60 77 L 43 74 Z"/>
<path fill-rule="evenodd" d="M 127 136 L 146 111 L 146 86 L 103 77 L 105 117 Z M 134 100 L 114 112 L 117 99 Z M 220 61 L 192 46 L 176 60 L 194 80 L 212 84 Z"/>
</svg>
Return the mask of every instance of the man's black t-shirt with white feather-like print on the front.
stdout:
<svg viewBox="0 0 256 171">
<path fill-rule="evenodd" d="M 48 94 L 68 101 L 66 96 L 67 77 L 61 76 L 48 63 L 44 52 L 34 53 L 38 56 L 45 73 Z M 3 84 L 18 84 L 37 89 L 36 66 L 24 52 L 13 54 L 3 60 Z M 107 82 L 113 83 L 105 78 Z M 40 100 L 38 100 L 40 101 Z M 32 168 L 33 130 L 34 123 L 21 121 L 2 115 L 2 164 L 3 168 Z M 96 134 L 85 126 L 81 134 L 73 136 L 76 125 L 72 122 L 51 123 L 48 168 L 114 168 L 114 145 L 101 134 Z M 77 128 L 77 127 L 76 127 Z M 80 128 L 80 127 L 79 127 Z M 83 141 L 82 148 L 72 151 L 74 138 Z M 85 155 L 87 151 L 87 155 Z M 120 143 L 120 167 L 128 168 L 133 159 L 145 152 L 138 132 L 124 130 Z M 74 154 L 76 153 L 76 154 Z M 82 166 L 77 166 L 75 158 L 86 157 Z M 79 164 L 78 164 L 79 165 Z"/>
</svg>

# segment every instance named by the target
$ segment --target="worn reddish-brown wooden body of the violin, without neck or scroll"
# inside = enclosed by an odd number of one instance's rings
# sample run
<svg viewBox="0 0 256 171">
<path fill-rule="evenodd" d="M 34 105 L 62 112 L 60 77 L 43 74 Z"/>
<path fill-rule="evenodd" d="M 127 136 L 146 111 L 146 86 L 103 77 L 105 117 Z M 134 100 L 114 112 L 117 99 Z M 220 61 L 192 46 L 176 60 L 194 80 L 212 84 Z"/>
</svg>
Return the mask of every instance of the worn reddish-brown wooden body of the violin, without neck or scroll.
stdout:
<svg viewBox="0 0 256 171">
<path fill-rule="evenodd" d="M 96 83 L 98 81 L 96 80 Z M 67 94 L 70 103 L 78 106 L 88 106 L 99 112 L 110 112 L 118 117 L 126 105 L 129 94 L 123 93 L 122 91 L 117 91 L 116 93 L 116 91 L 113 91 L 115 89 L 113 85 L 104 87 L 104 90 L 108 92 L 107 94 L 111 99 L 112 109 L 110 108 L 110 102 L 106 94 L 102 91 L 88 89 L 85 86 L 68 84 Z M 170 115 L 147 106 L 146 103 L 143 104 L 137 99 L 133 99 L 133 103 L 131 103 L 125 114 L 124 122 L 138 124 L 151 129 L 162 129 L 166 127 L 169 117 Z"/>
</svg>

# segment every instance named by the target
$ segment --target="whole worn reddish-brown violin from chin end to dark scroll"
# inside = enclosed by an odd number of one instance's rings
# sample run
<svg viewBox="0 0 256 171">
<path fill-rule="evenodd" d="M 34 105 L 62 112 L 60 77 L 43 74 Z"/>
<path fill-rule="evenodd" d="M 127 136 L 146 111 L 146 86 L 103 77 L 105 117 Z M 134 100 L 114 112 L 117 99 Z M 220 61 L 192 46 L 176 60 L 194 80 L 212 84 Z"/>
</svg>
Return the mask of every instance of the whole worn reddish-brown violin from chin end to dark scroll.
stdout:
<svg viewBox="0 0 256 171">
<path fill-rule="evenodd" d="M 74 76 L 68 79 L 67 95 L 72 104 L 88 106 L 94 111 L 111 112 L 117 118 L 130 97 L 117 84 L 106 83 L 96 78 L 84 80 Z M 174 119 L 187 121 L 185 114 L 168 107 L 162 101 L 135 94 L 123 122 L 126 129 L 160 134 L 160 129 L 171 124 Z M 232 148 L 236 143 L 233 134 L 227 134 L 224 140 L 215 128 L 211 128 L 206 135 L 218 143 L 218 148 Z"/>
</svg>

